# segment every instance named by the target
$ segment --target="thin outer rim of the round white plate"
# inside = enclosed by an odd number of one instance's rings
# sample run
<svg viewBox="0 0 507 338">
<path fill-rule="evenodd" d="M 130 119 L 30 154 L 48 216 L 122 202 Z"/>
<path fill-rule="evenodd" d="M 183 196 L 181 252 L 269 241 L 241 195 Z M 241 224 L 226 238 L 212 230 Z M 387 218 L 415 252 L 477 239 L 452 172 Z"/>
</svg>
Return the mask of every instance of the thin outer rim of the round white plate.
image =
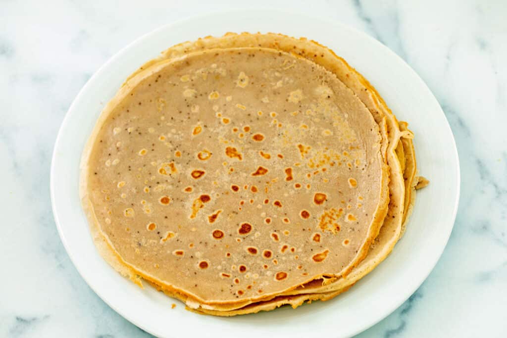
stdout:
<svg viewBox="0 0 507 338">
<path fill-rule="evenodd" d="M 394 310 L 396 310 L 397 308 L 399 308 L 421 286 L 421 284 L 427 279 L 427 277 L 429 276 L 429 274 L 433 271 L 434 267 L 437 265 L 437 262 L 440 260 L 440 257 L 442 256 L 442 254 L 443 254 L 443 252 L 444 252 L 444 250 L 445 250 L 445 248 L 447 246 L 447 243 L 449 241 L 450 235 L 452 233 L 452 230 L 454 228 L 454 224 L 455 224 L 455 221 L 456 221 L 456 215 L 457 215 L 458 206 L 459 206 L 459 200 L 460 200 L 461 169 L 460 169 L 459 156 L 458 156 L 458 151 L 457 151 L 457 146 L 456 146 L 456 140 L 455 140 L 454 134 L 452 132 L 452 129 L 450 127 L 449 121 L 447 120 L 447 117 L 446 117 L 446 115 L 445 115 L 445 113 L 444 113 L 444 111 L 442 109 L 442 106 L 440 105 L 440 102 L 433 95 L 433 93 L 431 92 L 431 90 L 429 89 L 429 87 L 427 86 L 427 84 L 421 79 L 421 77 L 419 76 L 419 74 L 405 60 L 403 60 L 399 55 L 397 55 L 396 53 L 394 53 L 389 47 L 385 46 L 384 44 L 382 44 L 381 42 L 379 42 L 378 40 L 376 40 L 374 37 L 370 36 L 366 32 L 364 32 L 362 30 L 359 30 L 359 29 L 357 29 L 357 28 L 355 28 L 353 26 L 350 26 L 348 24 L 345 24 L 345 23 L 343 23 L 341 21 L 331 21 L 329 19 L 322 19 L 322 18 L 319 18 L 319 17 L 317 17 L 315 15 L 308 15 L 306 13 L 297 12 L 297 11 L 294 11 L 294 10 L 291 10 L 291 11 L 281 11 L 281 10 L 278 10 L 278 9 L 270 10 L 270 9 L 256 9 L 256 8 L 248 9 L 248 8 L 244 8 L 244 9 L 234 9 L 234 10 L 227 10 L 227 11 L 210 11 L 210 12 L 206 12 L 206 13 L 202 13 L 202 14 L 198 14 L 198 15 L 187 16 L 187 17 L 184 17 L 184 18 L 172 21 L 170 23 L 164 24 L 164 25 L 162 25 L 162 26 L 160 26 L 158 28 L 155 28 L 155 29 L 147 32 L 147 33 L 141 34 L 139 37 L 137 37 L 136 39 L 134 39 L 132 42 L 128 43 L 126 46 L 124 46 L 123 48 L 121 48 L 118 52 L 116 52 L 114 55 L 112 55 L 110 58 L 108 58 L 93 73 L 93 75 L 90 77 L 90 79 L 88 79 L 88 81 L 86 82 L 86 84 L 81 88 L 81 90 L 79 91 L 78 95 L 74 98 L 73 102 L 70 104 L 69 108 L 67 109 L 67 111 L 65 113 L 65 116 L 64 116 L 64 118 L 63 118 L 63 120 L 61 122 L 61 125 L 60 125 L 60 127 L 58 129 L 58 134 L 57 134 L 57 137 L 55 139 L 55 143 L 54 143 L 54 147 L 53 147 L 53 152 L 52 152 L 52 157 L 51 157 L 51 169 L 50 169 L 50 197 L 51 197 L 51 206 L 52 206 L 53 217 L 55 219 L 56 227 L 57 227 L 57 230 L 58 230 L 58 235 L 59 235 L 60 240 L 61 240 L 61 242 L 62 242 L 62 244 L 63 244 L 63 246 L 65 248 L 65 251 L 66 251 L 67 255 L 69 256 L 71 262 L 73 263 L 74 267 L 76 268 L 76 270 L 80 274 L 81 278 L 93 290 L 93 292 L 97 296 L 99 296 L 104 303 L 106 303 L 115 312 L 117 312 L 120 316 L 122 316 L 123 318 L 125 318 L 126 320 L 128 320 L 129 322 L 131 322 L 132 324 L 136 325 L 137 327 L 141 328 L 142 330 L 147 331 L 147 332 L 149 332 L 149 333 L 151 333 L 153 335 L 157 335 L 157 332 L 154 331 L 152 328 L 146 327 L 146 325 L 143 325 L 143 323 L 140 320 L 138 320 L 137 318 L 133 318 L 132 316 L 129 316 L 128 314 L 125 313 L 125 311 L 122 311 L 122 309 L 119 309 L 117 306 L 115 306 L 114 304 L 112 304 L 113 302 L 110 302 L 110 299 L 108 299 L 108 297 L 105 294 L 103 294 L 103 292 L 97 290 L 96 288 L 94 288 L 92 286 L 92 283 L 89 281 L 89 279 L 87 278 L 87 276 L 83 273 L 81 267 L 78 264 L 76 264 L 76 259 L 75 259 L 74 253 L 71 253 L 73 251 L 70 249 L 69 243 L 67 242 L 67 238 L 64 235 L 62 224 L 61 224 L 60 219 L 59 219 L 58 208 L 57 208 L 56 202 L 55 202 L 55 190 L 56 190 L 56 186 L 55 186 L 55 181 L 56 181 L 56 177 L 55 177 L 55 175 L 56 175 L 56 173 L 55 173 L 55 171 L 56 171 L 56 164 L 55 163 L 58 161 L 57 160 L 58 145 L 60 144 L 61 138 L 63 137 L 62 136 L 63 131 L 64 131 L 65 127 L 68 125 L 68 123 L 69 123 L 69 121 L 71 119 L 70 118 L 70 116 L 71 116 L 70 113 L 71 113 L 71 111 L 73 111 L 73 110 L 76 109 L 76 105 L 81 100 L 81 97 L 84 96 L 84 95 L 86 95 L 86 93 L 88 91 L 88 88 L 93 84 L 95 78 L 97 78 L 99 76 L 99 74 L 101 74 L 104 71 L 104 69 L 108 68 L 108 66 L 110 66 L 111 64 L 114 64 L 116 62 L 116 60 L 118 58 L 120 58 L 126 51 L 128 51 L 131 48 L 133 48 L 135 45 L 139 44 L 144 39 L 147 39 L 148 37 L 150 37 L 152 35 L 156 35 L 160 31 L 165 31 L 167 29 L 170 29 L 173 26 L 182 25 L 182 24 L 185 24 L 185 23 L 188 23 L 188 22 L 191 22 L 191 21 L 194 21 L 194 20 L 198 20 L 198 19 L 208 18 L 208 17 L 211 17 L 213 15 L 224 15 L 224 14 L 234 15 L 234 14 L 244 14 L 244 13 L 252 14 L 252 12 L 255 13 L 255 14 L 257 14 L 257 15 L 262 15 L 263 13 L 269 13 L 269 14 L 278 13 L 278 14 L 283 14 L 283 15 L 286 15 L 286 16 L 299 16 L 299 17 L 306 17 L 306 18 L 312 19 L 312 20 L 318 20 L 318 21 L 320 21 L 321 23 L 323 23 L 325 25 L 329 25 L 329 26 L 333 26 L 333 27 L 336 27 L 336 28 L 341 28 L 341 29 L 346 29 L 346 30 L 352 31 L 354 34 L 360 35 L 363 39 L 368 40 L 368 42 L 370 44 L 376 44 L 380 48 L 383 48 L 388 54 L 390 54 L 391 57 L 397 59 L 396 61 L 398 63 L 400 63 L 400 65 L 403 64 L 403 66 L 406 68 L 406 71 L 410 72 L 411 75 L 414 77 L 414 79 L 417 79 L 417 81 L 422 86 L 422 88 L 424 88 L 424 90 L 426 90 L 427 93 L 436 101 L 436 103 L 438 104 L 438 107 L 440 108 L 438 113 L 443 116 L 443 118 L 444 118 L 444 120 L 446 122 L 443 127 L 446 129 L 446 132 L 451 136 L 451 139 L 452 139 L 452 143 L 450 145 L 450 149 L 452 148 L 452 155 L 453 155 L 453 158 L 454 158 L 453 160 L 456 163 L 455 172 L 454 172 L 454 175 L 455 175 L 455 185 L 456 185 L 456 193 L 455 193 L 455 196 L 454 196 L 455 201 L 454 201 L 453 210 L 452 210 L 452 216 L 451 216 L 452 226 L 450 226 L 448 228 L 448 233 L 445 234 L 445 238 L 446 239 L 444 241 L 442 249 L 440 250 L 440 253 L 438 255 L 436 255 L 435 258 L 433 259 L 433 261 L 431 261 L 428 264 L 428 266 L 430 266 L 431 268 L 428 269 L 428 271 L 424 274 L 425 275 L 424 278 L 422 278 L 420 282 L 417 282 L 416 286 L 413 289 L 411 288 L 410 293 L 406 297 L 405 296 L 402 297 L 403 298 L 402 301 L 400 301 L 400 302 L 394 302 L 391 307 L 389 307 L 387 310 L 383 311 L 383 315 L 378 316 L 376 318 L 376 320 L 374 320 L 373 322 L 366 322 L 366 321 L 361 322 L 361 325 L 358 325 L 358 327 L 350 335 L 347 335 L 347 336 L 352 336 L 352 335 L 358 334 L 358 333 L 363 332 L 364 330 L 372 327 L 373 325 L 377 324 L 378 322 L 380 322 L 381 320 L 383 320 L 384 318 L 386 318 L 387 316 L 389 316 Z M 80 159 L 81 159 L 81 157 L 80 157 Z M 399 303 L 399 304 L 397 304 L 397 303 Z"/>
</svg>

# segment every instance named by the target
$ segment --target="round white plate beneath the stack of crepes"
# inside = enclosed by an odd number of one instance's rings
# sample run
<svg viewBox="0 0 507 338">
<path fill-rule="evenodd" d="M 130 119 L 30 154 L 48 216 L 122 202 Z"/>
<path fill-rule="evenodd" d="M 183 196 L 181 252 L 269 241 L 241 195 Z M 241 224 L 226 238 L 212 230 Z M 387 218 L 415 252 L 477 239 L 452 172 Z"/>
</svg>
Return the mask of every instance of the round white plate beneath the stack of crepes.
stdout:
<svg viewBox="0 0 507 338">
<path fill-rule="evenodd" d="M 407 232 L 391 255 L 354 287 L 328 302 L 296 310 L 219 318 L 186 311 L 155 291 L 140 289 L 114 271 L 95 250 L 78 193 L 85 142 L 104 104 L 142 63 L 162 50 L 228 31 L 280 32 L 329 46 L 377 88 L 399 120 L 415 134 L 419 172 L 431 183 L 417 194 Z M 459 198 L 456 145 L 444 113 L 424 82 L 400 57 L 363 32 L 302 14 L 241 11 L 194 17 L 164 26 L 121 50 L 83 87 L 70 106 L 56 140 L 51 167 L 51 200 L 61 240 L 90 287 L 126 319 L 158 336 L 308 336 L 318 329 L 350 336 L 399 307 L 437 263 L 454 224 Z M 171 309 L 171 303 L 177 307 Z"/>
</svg>

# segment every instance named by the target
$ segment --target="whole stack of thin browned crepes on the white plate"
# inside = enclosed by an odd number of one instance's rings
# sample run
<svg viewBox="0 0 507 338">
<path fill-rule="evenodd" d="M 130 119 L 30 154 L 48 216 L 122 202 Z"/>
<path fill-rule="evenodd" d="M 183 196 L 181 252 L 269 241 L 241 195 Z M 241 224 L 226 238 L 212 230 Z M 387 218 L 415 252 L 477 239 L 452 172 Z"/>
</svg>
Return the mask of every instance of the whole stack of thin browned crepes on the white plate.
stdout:
<svg viewBox="0 0 507 338">
<path fill-rule="evenodd" d="M 427 184 L 413 133 L 332 50 L 280 34 L 164 51 L 107 104 L 81 199 L 118 272 L 217 316 L 348 290 Z"/>
</svg>

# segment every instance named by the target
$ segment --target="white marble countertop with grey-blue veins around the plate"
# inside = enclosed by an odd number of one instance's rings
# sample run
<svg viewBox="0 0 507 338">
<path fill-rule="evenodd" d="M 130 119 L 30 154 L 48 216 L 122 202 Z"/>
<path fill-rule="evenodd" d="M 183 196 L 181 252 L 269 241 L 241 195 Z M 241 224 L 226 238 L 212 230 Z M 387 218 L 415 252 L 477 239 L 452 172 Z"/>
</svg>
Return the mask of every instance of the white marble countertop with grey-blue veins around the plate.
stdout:
<svg viewBox="0 0 507 338">
<path fill-rule="evenodd" d="M 255 4 L 292 4 L 374 36 L 428 84 L 456 138 L 461 200 L 447 248 L 410 299 L 360 336 L 507 336 L 507 2 Z M 70 262 L 51 212 L 53 144 L 81 87 L 126 44 L 176 19 L 240 5 L 2 2 L 0 336 L 150 336 L 104 304 Z"/>
</svg>

